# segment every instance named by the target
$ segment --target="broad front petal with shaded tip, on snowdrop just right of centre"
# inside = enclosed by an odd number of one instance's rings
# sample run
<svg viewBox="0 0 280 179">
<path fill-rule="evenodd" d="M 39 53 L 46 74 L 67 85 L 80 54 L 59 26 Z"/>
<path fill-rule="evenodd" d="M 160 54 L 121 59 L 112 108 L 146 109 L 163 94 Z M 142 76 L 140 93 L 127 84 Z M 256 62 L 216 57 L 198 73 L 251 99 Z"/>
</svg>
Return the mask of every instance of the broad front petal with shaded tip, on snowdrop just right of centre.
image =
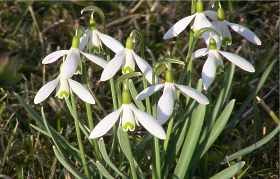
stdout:
<svg viewBox="0 0 280 179">
<path fill-rule="evenodd" d="M 165 83 L 162 96 L 157 105 L 157 120 L 164 124 L 170 117 L 174 109 L 175 88 L 171 83 Z"/>
</svg>

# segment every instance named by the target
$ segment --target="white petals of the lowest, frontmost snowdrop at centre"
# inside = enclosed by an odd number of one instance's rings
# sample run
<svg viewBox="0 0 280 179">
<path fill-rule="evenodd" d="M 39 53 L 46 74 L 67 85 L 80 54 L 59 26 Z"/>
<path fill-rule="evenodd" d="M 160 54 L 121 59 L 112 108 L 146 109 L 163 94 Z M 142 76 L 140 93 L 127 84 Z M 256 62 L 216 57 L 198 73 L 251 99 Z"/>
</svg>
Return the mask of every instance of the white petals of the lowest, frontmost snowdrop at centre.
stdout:
<svg viewBox="0 0 280 179">
<path fill-rule="evenodd" d="M 148 113 L 140 111 L 134 104 L 123 104 L 120 109 L 103 118 L 90 133 L 89 138 L 95 139 L 107 133 L 120 120 L 124 131 L 134 131 L 135 125 L 141 124 L 147 131 L 159 139 L 165 139 L 166 134 L 160 124 Z"/>
</svg>

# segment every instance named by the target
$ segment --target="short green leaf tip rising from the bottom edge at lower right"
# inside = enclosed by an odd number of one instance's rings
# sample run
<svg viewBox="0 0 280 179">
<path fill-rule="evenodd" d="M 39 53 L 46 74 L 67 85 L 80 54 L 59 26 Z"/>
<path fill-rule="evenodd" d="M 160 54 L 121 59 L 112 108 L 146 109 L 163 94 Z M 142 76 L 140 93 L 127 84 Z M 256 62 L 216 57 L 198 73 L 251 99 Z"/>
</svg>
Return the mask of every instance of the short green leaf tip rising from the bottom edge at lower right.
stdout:
<svg viewBox="0 0 280 179">
<path fill-rule="evenodd" d="M 215 174 L 214 176 L 212 176 L 210 179 L 230 179 L 231 177 L 233 177 L 234 175 L 236 175 L 245 165 L 245 162 L 238 162 L 224 170 L 222 170 L 221 172 Z"/>
</svg>

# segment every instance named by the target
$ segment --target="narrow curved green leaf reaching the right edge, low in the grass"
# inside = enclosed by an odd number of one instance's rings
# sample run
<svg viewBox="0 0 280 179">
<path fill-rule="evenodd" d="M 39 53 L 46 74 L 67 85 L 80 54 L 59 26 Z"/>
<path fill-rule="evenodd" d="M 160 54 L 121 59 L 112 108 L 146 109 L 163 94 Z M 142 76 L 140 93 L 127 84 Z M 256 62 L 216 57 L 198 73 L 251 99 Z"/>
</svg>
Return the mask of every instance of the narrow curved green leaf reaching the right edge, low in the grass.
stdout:
<svg viewBox="0 0 280 179">
<path fill-rule="evenodd" d="M 225 162 L 232 161 L 234 159 L 247 155 L 247 154 L 253 152 L 254 150 L 257 150 L 264 144 L 268 143 L 275 135 L 277 135 L 279 133 L 279 131 L 280 131 L 280 126 L 276 127 L 273 131 L 271 131 L 268 135 L 266 135 L 264 138 L 262 138 L 258 142 L 226 157 Z"/>
</svg>

